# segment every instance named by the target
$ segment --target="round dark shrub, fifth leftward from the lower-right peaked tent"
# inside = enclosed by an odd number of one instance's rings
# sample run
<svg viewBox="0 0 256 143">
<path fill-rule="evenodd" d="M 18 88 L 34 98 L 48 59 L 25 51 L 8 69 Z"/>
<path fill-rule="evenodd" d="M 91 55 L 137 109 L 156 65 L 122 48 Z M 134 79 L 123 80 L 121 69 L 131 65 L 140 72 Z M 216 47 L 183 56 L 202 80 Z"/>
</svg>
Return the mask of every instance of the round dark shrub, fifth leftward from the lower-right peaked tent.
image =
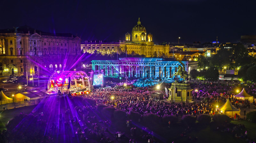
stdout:
<svg viewBox="0 0 256 143">
<path fill-rule="evenodd" d="M 143 124 L 146 127 L 154 127 L 156 124 L 159 123 L 159 117 L 153 113 L 147 113 L 143 116 Z"/>
</svg>

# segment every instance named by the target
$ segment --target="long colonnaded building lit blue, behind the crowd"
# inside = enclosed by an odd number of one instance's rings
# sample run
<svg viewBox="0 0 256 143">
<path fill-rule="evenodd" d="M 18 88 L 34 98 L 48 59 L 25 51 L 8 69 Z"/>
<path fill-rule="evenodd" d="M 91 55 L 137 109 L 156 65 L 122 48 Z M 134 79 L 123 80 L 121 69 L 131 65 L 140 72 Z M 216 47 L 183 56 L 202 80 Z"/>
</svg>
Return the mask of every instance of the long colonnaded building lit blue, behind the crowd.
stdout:
<svg viewBox="0 0 256 143">
<path fill-rule="evenodd" d="M 197 69 L 196 61 L 180 61 L 189 73 Z M 119 58 L 92 60 L 92 70 L 104 70 L 104 77 L 170 78 L 177 72 L 179 61 L 173 58 Z"/>
</svg>

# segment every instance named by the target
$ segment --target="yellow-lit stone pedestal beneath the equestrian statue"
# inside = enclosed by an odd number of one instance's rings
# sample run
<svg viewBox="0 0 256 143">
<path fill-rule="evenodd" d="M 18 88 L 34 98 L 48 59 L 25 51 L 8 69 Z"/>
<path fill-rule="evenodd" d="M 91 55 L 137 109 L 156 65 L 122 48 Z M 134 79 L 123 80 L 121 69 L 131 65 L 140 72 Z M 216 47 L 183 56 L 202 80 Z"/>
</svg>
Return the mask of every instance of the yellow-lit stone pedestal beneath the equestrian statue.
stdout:
<svg viewBox="0 0 256 143">
<path fill-rule="evenodd" d="M 175 93 L 175 88 L 177 92 Z M 168 101 L 174 102 L 192 102 L 192 88 L 189 83 L 172 83 L 171 88 L 169 88 L 170 96 Z"/>
</svg>

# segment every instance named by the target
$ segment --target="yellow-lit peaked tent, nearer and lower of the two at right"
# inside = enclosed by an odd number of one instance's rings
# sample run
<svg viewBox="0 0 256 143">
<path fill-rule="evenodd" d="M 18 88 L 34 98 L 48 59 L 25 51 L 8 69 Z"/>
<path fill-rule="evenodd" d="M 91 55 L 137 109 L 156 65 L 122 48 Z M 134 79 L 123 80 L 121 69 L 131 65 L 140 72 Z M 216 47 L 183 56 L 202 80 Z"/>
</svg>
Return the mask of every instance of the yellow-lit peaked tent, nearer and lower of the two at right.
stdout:
<svg viewBox="0 0 256 143">
<path fill-rule="evenodd" d="M 220 108 L 217 108 L 217 109 L 221 110 L 223 112 L 223 114 L 226 114 L 229 117 L 234 117 L 236 114 L 240 116 L 240 109 L 236 109 L 231 104 L 229 99 L 227 100 L 227 102 L 224 105 L 222 105 Z"/>
</svg>

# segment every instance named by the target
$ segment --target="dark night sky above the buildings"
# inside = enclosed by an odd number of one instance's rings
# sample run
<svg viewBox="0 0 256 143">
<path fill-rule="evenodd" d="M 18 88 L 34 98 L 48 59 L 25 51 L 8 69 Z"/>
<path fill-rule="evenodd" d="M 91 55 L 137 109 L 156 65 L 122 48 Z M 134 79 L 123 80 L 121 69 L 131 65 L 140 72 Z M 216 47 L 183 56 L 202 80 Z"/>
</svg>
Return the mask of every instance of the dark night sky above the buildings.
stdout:
<svg viewBox="0 0 256 143">
<path fill-rule="evenodd" d="M 160 42 L 237 42 L 256 34 L 252 0 L 31 0 L 1 1 L 0 29 L 23 25 L 51 33 L 72 33 L 82 40 L 124 40 L 141 25 Z"/>
</svg>

